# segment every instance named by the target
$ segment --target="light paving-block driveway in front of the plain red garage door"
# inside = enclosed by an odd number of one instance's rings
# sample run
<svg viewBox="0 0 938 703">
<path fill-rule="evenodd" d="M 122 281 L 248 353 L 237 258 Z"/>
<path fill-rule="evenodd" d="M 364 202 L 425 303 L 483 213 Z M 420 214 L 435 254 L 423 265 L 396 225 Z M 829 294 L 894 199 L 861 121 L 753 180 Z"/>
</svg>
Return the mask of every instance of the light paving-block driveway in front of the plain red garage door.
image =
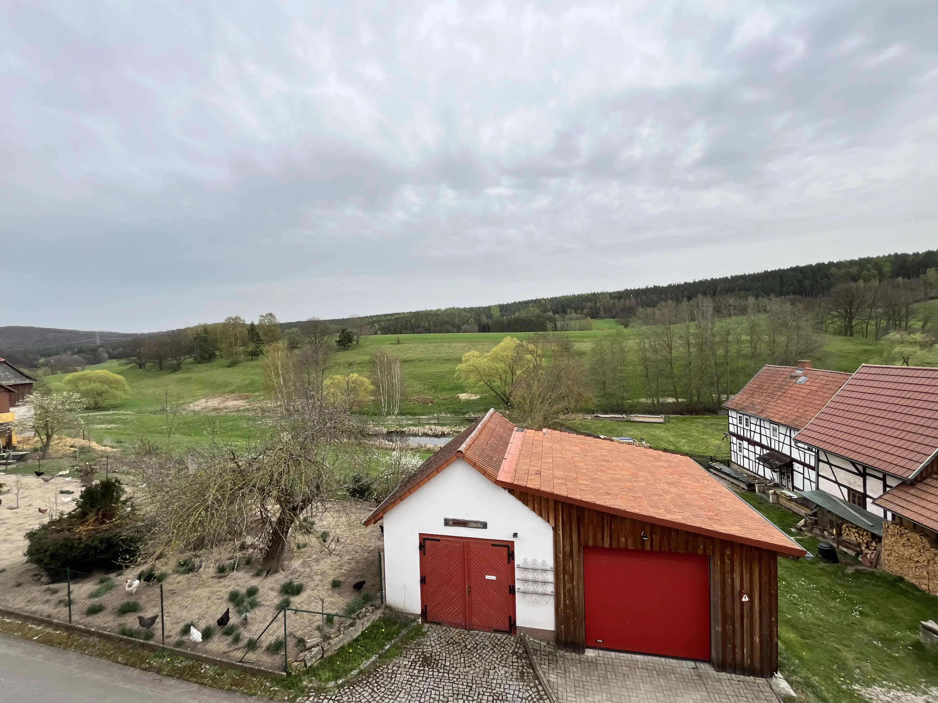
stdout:
<svg viewBox="0 0 938 703">
<path fill-rule="evenodd" d="M 765 679 L 724 674 L 702 662 L 588 650 L 531 640 L 557 703 L 779 703 Z"/>
</svg>

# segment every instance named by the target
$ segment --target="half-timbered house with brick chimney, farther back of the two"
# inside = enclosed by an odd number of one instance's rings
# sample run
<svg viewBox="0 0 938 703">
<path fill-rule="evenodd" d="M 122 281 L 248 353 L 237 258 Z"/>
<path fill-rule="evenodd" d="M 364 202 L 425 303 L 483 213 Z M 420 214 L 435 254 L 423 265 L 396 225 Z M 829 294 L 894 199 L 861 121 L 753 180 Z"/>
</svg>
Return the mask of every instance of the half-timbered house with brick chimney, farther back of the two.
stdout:
<svg viewBox="0 0 938 703">
<path fill-rule="evenodd" d="M 723 407 L 729 411 L 730 458 L 751 471 L 793 490 L 817 488 L 815 451 L 795 441 L 849 373 L 798 366 L 764 366 Z"/>
</svg>

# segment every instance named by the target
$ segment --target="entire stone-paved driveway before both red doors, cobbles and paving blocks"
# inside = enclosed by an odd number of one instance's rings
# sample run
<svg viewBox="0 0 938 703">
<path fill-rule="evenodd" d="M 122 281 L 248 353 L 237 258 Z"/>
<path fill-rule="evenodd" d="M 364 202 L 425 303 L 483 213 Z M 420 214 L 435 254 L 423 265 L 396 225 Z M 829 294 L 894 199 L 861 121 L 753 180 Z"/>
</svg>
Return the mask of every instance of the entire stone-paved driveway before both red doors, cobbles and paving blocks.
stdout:
<svg viewBox="0 0 938 703">
<path fill-rule="evenodd" d="M 589 651 L 531 640 L 557 703 L 778 703 L 764 679 L 699 662 Z M 546 703 L 520 637 L 426 626 L 392 661 L 310 703 Z"/>
</svg>

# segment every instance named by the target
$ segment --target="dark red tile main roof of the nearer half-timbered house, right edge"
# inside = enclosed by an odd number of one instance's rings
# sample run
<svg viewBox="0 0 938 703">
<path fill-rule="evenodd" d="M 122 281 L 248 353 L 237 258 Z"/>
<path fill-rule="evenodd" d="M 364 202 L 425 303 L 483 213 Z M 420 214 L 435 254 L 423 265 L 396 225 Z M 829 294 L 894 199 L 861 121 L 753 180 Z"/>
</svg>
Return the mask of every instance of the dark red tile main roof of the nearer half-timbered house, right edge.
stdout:
<svg viewBox="0 0 938 703">
<path fill-rule="evenodd" d="M 864 364 L 795 438 L 909 478 L 938 450 L 938 368 Z"/>
</svg>

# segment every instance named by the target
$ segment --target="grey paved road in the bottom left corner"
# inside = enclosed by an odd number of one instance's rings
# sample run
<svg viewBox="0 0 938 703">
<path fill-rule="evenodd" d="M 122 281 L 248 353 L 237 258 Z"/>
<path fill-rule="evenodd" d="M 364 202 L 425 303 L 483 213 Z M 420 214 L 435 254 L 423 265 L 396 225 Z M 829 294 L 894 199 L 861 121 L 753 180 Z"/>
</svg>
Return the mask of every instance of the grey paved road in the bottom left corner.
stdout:
<svg viewBox="0 0 938 703">
<path fill-rule="evenodd" d="M 3 703 L 248 703 L 261 698 L 106 662 L 0 634 Z"/>
</svg>

